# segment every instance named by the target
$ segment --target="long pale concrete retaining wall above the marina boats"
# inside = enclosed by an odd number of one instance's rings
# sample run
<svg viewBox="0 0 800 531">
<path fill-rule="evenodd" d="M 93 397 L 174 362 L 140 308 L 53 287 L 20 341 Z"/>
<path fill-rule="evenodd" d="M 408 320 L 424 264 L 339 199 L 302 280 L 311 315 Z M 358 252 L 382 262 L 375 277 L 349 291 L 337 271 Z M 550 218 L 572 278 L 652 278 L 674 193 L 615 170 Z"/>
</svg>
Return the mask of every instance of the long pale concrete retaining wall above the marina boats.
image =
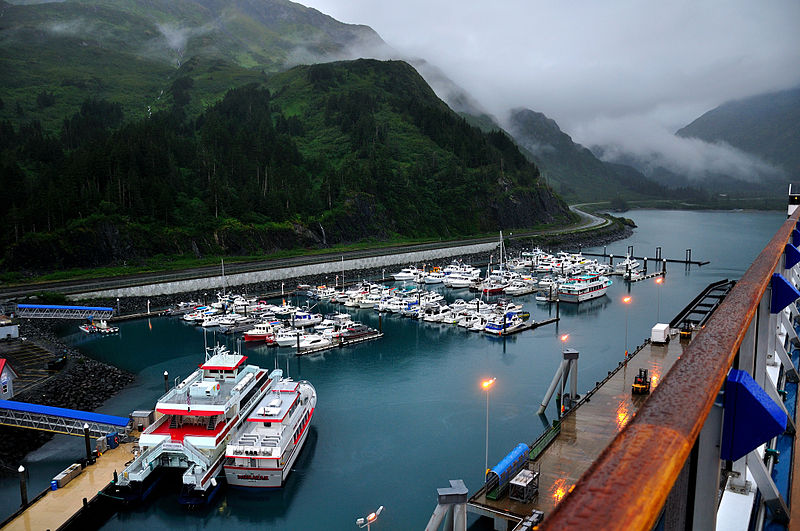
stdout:
<svg viewBox="0 0 800 531">
<path fill-rule="evenodd" d="M 236 273 L 232 275 L 225 275 L 225 285 L 241 286 L 274 280 L 288 280 L 312 275 L 341 275 L 342 271 L 344 271 L 345 279 L 348 280 L 348 271 L 388 266 L 393 266 L 395 269 L 397 269 L 398 265 L 420 264 L 426 260 L 437 260 L 454 256 L 489 252 L 496 249 L 497 245 L 497 243 L 481 243 L 475 245 L 463 245 L 459 247 L 447 247 L 444 249 L 431 249 L 428 251 L 373 256 L 370 258 L 359 258 L 355 260 L 323 262 L 306 266 L 265 269 L 263 271 L 253 271 L 250 273 Z M 394 269 L 392 272 L 394 272 Z M 387 271 L 387 275 L 388 274 L 389 272 Z M 82 300 L 114 297 L 153 297 L 156 295 L 174 295 L 176 293 L 202 290 L 211 291 L 217 289 L 222 289 L 222 276 L 91 291 L 70 295 L 69 299 Z"/>
</svg>

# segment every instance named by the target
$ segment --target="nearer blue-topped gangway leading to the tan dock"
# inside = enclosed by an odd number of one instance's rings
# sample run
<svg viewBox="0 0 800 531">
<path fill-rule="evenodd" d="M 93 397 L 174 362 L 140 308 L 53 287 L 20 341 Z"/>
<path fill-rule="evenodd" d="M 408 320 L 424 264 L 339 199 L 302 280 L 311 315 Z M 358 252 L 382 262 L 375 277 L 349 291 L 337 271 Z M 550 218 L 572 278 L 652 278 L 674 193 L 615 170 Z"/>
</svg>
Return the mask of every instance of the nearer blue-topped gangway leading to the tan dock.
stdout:
<svg viewBox="0 0 800 531">
<path fill-rule="evenodd" d="M 34 430 L 84 436 L 83 426 L 89 426 L 91 437 L 129 431 L 130 420 L 90 411 L 79 411 L 14 400 L 0 400 L 0 424 Z"/>
</svg>

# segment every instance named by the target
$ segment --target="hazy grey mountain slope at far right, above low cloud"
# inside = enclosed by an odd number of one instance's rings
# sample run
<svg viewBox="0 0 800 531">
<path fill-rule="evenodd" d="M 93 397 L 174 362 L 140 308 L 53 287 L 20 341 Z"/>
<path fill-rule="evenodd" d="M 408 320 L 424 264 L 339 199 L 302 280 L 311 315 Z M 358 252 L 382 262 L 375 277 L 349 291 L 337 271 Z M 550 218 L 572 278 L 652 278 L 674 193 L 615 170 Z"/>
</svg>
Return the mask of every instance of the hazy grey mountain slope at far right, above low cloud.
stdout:
<svg viewBox="0 0 800 531">
<path fill-rule="evenodd" d="M 800 88 L 731 101 L 680 129 L 682 137 L 726 142 L 800 174 Z"/>
</svg>

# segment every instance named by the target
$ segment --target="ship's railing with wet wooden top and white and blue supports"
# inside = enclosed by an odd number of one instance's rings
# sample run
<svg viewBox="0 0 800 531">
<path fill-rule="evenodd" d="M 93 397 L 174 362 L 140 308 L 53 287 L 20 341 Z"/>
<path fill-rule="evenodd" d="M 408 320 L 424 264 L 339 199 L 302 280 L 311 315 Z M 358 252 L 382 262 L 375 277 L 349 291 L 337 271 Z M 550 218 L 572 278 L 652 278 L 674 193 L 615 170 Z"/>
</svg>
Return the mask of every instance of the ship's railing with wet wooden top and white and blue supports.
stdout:
<svg viewBox="0 0 800 531">
<path fill-rule="evenodd" d="M 758 431 L 740 417 L 742 408 L 734 411 L 730 403 L 725 407 L 731 369 L 746 372 L 773 405 L 786 411 L 776 384 L 781 387 L 787 374 L 796 375 L 786 347 L 791 351 L 790 339 L 797 341 L 794 322 L 800 320 L 795 304 L 800 295 L 795 271 L 800 260 L 795 247 L 800 243 L 799 214 L 781 226 L 706 325 L 696 331 L 637 415 L 540 529 L 714 529 L 718 505 L 727 492 L 720 486 L 726 481 L 729 487 L 738 481 L 748 491 L 757 488 L 754 522 L 763 527 L 767 512 L 773 521 L 788 521 L 790 494 L 776 487 L 768 470 L 774 462 L 767 456 L 774 454 L 769 447 L 775 436 L 764 434 L 759 439 L 763 445 L 766 438 L 768 445 L 764 457 L 745 446 L 744 457 L 726 461 L 721 448 L 741 444 L 732 436 L 723 438 L 724 418 L 747 423 L 746 431 Z M 767 367 L 778 360 L 782 370 L 773 369 L 780 374 L 773 382 Z M 780 437 L 793 435 L 793 416 L 794 412 L 788 415 L 789 429 Z M 796 444 L 788 445 L 781 460 L 794 457 L 786 453 Z M 754 484 L 744 484 L 746 478 Z M 800 509 L 795 511 L 800 518 Z M 670 525 L 660 527 L 666 519 Z"/>
</svg>

